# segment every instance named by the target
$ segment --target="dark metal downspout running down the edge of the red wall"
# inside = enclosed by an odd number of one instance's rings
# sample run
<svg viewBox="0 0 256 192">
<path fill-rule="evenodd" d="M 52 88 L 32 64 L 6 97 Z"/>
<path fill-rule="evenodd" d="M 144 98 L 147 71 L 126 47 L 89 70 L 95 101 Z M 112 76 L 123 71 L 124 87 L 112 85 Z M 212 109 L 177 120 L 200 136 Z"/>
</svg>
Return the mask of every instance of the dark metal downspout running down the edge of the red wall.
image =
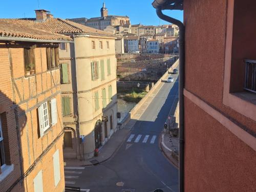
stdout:
<svg viewBox="0 0 256 192">
<path fill-rule="evenodd" d="M 162 13 L 161 8 L 156 9 L 159 18 L 166 22 L 175 24 L 180 29 L 179 34 L 179 192 L 184 191 L 184 81 L 185 81 L 185 27 L 180 20 L 169 17 Z"/>
</svg>

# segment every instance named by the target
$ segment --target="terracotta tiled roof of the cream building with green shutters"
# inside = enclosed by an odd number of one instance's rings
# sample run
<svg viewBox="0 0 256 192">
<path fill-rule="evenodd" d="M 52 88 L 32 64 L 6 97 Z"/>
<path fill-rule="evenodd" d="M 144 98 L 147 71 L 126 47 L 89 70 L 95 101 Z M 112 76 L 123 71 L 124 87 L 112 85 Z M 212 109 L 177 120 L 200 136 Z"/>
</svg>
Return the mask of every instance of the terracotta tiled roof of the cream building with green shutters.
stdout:
<svg viewBox="0 0 256 192">
<path fill-rule="evenodd" d="M 114 36 L 110 35 L 101 30 L 90 28 L 84 25 L 80 25 L 69 20 L 60 19 L 60 18 L 48 18 L 44 22 L 38 22 L 36 20 L 29 19 L 6 19 L 11 23 L 17 25 L 28 26 L 33 29 L 46 30 L 53 33 L 59 34 L 91 34 L 91 35 L 105 35 L 105 36 Z"/>
</svg>

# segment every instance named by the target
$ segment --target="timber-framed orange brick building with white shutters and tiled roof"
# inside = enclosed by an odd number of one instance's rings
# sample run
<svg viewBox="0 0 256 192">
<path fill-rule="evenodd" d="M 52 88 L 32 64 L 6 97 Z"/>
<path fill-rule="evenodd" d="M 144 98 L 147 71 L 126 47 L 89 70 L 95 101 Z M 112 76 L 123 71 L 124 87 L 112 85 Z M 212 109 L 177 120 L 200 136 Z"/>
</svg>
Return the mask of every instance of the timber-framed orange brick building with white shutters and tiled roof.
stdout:
<svg viewBox="0 0 256 192">
<path fill-rule="evenodd" d="M 0 191 L 63 191 L 58 43 L 0 19 Z"/>
</svg>

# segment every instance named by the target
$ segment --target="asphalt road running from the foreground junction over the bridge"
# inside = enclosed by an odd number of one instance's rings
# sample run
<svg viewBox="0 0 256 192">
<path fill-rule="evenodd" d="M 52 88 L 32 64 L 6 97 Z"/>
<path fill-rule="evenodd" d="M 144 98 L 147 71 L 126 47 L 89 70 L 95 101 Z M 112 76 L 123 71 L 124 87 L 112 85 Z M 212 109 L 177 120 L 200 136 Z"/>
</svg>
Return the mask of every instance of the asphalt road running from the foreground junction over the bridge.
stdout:
<svg viewBox="0 0 256 192">
<path fill-rule="evenodd" d="M 176 80 L 178 74 L 173 76 Z M 70 170 L 76 182 L 67 185 L 90 192 L 178 191 L 178 169 L 162 154 L 158 140 L 177 95 L 178 80 L 164 83 L 116 154 L 101 164 Z"/>
</svg>

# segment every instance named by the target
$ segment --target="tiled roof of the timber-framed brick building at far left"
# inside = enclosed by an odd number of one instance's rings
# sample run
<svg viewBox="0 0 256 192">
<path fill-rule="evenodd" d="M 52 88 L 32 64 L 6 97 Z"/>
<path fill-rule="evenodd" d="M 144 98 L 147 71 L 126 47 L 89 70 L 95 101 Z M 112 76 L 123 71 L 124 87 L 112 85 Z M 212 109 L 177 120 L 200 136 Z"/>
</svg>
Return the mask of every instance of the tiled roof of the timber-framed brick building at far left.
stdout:
<svg viewBox="0 0 256 192">
<path fill-rule="evenodd" d="M 32 21 L 31 21 L 32 22 Z M 72 40 L 71 37 L 25 25 L 18 19 L 0 19 L 0 36 L 37 40 Z"/>
</svg>

